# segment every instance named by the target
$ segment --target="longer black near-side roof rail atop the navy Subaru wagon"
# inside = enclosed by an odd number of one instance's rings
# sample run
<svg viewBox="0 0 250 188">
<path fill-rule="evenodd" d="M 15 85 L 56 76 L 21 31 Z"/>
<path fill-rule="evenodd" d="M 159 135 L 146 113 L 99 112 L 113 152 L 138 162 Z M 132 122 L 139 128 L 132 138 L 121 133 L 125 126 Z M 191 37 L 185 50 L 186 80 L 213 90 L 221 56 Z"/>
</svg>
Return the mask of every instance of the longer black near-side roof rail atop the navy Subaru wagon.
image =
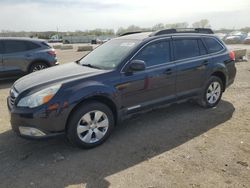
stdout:
<svg viewBox="0 0 250 188">
<path fill-rule="evenodd" d="M 172 33 L 204 33 L 204 34 L 214 34 L 212 29 L 209 28 L 178 28 L 178 29 L 164 29 L 160 31 L 156 31 L 150 36 L 158 36 Z"/>
</svg>

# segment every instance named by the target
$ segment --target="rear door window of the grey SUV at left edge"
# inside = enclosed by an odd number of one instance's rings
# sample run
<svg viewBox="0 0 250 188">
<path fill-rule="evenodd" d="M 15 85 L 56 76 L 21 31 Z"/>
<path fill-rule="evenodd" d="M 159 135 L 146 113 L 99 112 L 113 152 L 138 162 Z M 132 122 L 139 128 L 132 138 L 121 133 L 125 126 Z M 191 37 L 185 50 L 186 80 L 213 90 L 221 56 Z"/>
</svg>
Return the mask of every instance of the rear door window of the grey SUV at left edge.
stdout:
<svg viewBox="0 0 250 188">
<path fill-rule="evenodd" d="M 5 53 L 23 52 L 27 50 L 27 45 L 23 41 L 4 41 Z"/>
</svg>

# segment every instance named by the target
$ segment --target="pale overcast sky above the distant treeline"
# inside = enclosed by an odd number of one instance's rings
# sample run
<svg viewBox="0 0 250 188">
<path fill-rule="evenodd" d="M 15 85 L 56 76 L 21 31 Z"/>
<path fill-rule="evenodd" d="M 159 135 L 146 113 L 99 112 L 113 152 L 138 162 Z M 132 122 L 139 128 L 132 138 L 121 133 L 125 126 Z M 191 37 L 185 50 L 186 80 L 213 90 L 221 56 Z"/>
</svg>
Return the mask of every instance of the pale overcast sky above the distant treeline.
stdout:
<svg viewBox="0 0 250 188">
<path fill-rule="evenodd" d="M 214 29 L 250 26 L 250 0 L 0 0 L 0 30 L 151 27 L 203 18 Z"/>
</svg>

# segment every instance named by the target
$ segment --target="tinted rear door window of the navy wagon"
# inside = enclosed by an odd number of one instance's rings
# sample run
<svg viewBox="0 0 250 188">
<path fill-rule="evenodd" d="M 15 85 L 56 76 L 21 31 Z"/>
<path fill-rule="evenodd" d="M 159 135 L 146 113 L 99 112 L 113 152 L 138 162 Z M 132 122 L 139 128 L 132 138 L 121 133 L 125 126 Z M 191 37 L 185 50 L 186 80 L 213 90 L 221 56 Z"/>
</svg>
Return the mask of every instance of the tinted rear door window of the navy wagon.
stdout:
<svg viewBox="0 0 250 188">
<path fill-rule="evenodd" d="M 200 55 L 196 39 L 179 39 L 174 41 L 174 53 L 177 60 Z"/>
</svg>

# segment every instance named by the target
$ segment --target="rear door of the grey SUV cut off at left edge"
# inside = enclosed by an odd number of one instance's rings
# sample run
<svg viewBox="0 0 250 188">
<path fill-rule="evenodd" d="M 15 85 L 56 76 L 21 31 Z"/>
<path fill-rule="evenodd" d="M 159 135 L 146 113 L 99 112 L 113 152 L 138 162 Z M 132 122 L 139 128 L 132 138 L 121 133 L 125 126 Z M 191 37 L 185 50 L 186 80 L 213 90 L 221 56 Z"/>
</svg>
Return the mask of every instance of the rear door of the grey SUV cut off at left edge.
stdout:
<svg viewBox="0 0 250 188">
<path fill-rule="evenodd" d="M 28 66 L 28 46 L 22 40 L 4 40 L 3 65 L 6 73 L 16 74 L 25 72 Z"/>
</svg>

